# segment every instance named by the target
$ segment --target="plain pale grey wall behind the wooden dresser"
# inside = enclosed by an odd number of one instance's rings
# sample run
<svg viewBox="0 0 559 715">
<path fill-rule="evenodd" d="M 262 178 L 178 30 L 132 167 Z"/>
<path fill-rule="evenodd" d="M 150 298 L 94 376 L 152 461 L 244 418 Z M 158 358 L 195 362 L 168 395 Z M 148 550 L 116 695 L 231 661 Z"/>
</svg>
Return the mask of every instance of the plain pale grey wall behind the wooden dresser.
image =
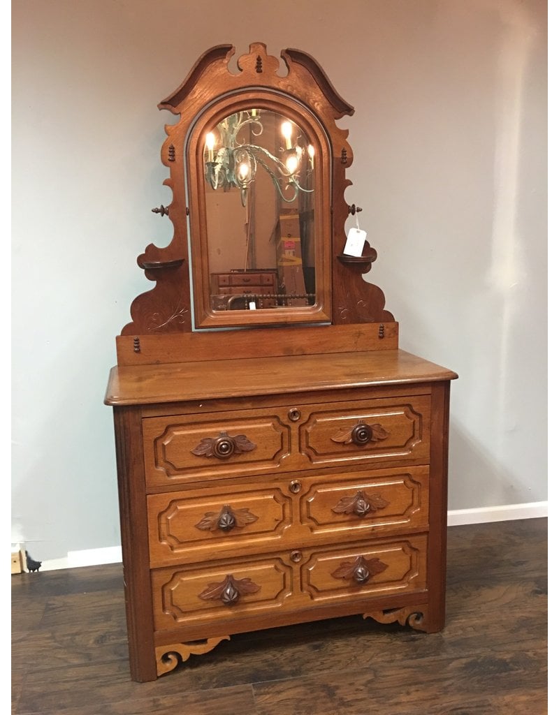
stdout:
<svg viewBox="0 0 559 715">
<path fill-rule="evenodd" d="M 12 540 L 120 543 L 115 335 L 166 245 L 157 110 L 198 56 L 303 49 L 354 104 L 348 202 L 401 347 L 457 370 L 449 506 L 547 499 L 543 0 L 12 4 Z M 349 221 L 348 226 L 351 225 Z"/>
</svg>

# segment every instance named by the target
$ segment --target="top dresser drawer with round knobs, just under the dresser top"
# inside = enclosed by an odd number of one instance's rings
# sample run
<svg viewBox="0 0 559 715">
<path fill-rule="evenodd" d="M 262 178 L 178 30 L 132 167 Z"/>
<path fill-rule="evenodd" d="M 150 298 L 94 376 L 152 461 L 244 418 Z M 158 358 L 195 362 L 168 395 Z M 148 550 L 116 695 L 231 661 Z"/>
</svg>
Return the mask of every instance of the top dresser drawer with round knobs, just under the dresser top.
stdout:
<svg viewBox="0 0 559 715">
<path fill-rule="evenodd" d="M 427 464 L 430 404 L 429 395 L 410 395 L 145 418 L 146 483 Z"/>
</svg>

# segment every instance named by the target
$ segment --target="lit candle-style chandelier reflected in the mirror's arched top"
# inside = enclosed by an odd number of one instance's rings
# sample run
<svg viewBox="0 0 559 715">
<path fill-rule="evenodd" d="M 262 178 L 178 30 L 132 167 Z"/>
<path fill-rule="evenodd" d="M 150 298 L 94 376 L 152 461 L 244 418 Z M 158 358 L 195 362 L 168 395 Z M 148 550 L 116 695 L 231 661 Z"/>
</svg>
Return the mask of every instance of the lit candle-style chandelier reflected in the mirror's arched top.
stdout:
<svg viewBox="0 0 559 715">
<path fill-rule="evenodd" d="M 281 131 L 270 131 L 268 124 L 273 121 L 275 127 L 278 118 Z M 206 134 L 204 163 L 208 184 L 215 190 L 237 187 L 243 206 L 258 167 L 268 174 L 284 202 L 313 191 L 313 145 L 294 122 L 273 112 L 251 109 L 225 117 Z"/>
</svg>

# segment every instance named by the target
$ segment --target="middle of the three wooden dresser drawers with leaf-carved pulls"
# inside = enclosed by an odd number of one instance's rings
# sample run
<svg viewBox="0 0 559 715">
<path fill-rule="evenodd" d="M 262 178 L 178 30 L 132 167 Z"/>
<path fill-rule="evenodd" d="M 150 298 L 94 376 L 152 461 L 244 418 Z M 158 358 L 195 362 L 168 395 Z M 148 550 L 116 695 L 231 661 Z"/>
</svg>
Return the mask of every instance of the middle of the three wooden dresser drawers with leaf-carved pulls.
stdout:
<svg viewBox="0 0 559 715">
<path fill-rule="evenodd" d="M 147 496 L 152 568 L 427 529 L 427 466 Z"/>
</svg>

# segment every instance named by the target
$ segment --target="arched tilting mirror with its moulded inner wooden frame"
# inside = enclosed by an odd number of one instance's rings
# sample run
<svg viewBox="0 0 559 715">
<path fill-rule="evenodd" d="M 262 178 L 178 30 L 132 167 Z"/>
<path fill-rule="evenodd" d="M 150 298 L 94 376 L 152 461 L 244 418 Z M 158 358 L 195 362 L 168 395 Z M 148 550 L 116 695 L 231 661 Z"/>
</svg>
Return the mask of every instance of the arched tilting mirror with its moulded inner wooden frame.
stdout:
<svg viewBox="0 0 559 715">
<path fill-rule="evenodd" d="M 200 327 L 329 322 L 328 138 L 293 99 L 246 94 L 212 105 L 186 148 Z"/>
</svg>

